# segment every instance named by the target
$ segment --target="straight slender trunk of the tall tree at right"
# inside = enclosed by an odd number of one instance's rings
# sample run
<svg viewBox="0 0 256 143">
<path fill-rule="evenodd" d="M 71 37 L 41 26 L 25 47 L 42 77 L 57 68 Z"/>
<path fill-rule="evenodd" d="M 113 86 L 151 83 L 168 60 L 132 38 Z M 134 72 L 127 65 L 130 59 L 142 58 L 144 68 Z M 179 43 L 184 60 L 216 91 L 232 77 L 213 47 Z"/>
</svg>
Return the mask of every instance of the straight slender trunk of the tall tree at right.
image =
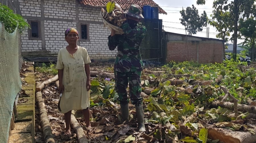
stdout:
<svg viewBox="0 0 256 143">
<path fill-rule="evenodd" d="M 236 49 L 237 49 L 237 22 L 238 22 L 238 13 L 239 11 L 239 6 L 238 6 L 238 0 L 234 0 L 234 40 L 233 40 L 233 59 L 236 61 Z"/>
</svg>

